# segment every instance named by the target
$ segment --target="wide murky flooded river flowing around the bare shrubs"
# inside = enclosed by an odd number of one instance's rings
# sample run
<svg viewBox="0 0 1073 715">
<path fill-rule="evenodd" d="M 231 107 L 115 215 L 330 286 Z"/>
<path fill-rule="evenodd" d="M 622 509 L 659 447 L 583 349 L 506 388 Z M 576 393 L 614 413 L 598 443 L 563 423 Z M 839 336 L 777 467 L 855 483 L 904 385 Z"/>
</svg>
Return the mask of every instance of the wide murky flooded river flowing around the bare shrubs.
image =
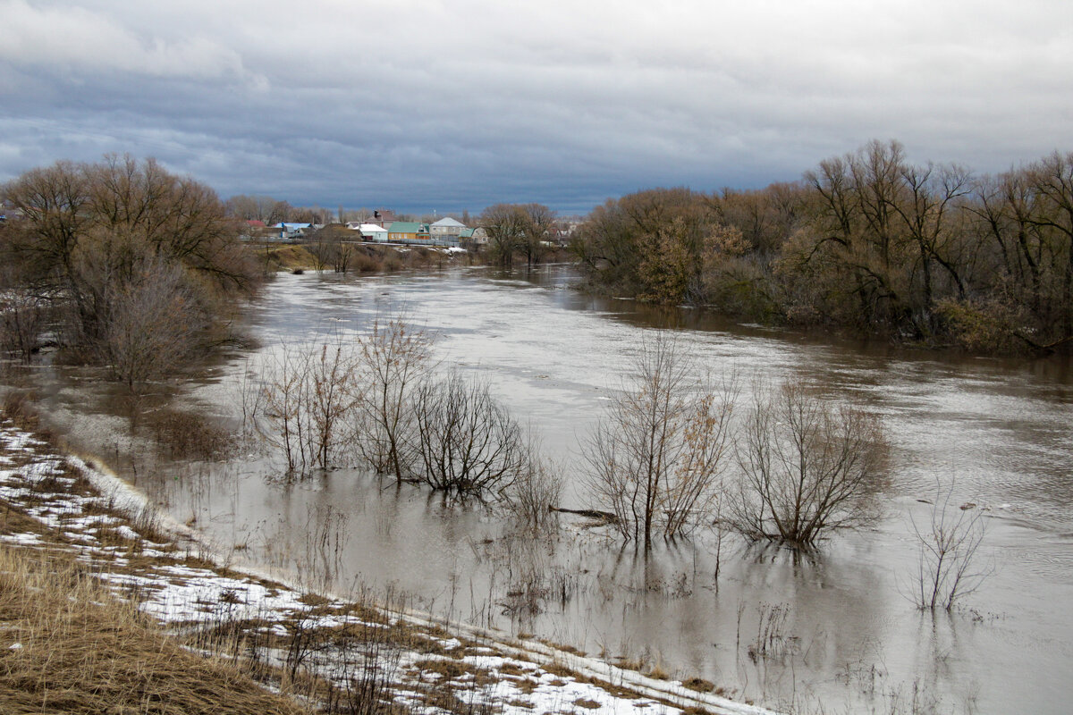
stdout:
<svg viewBox="0 0 1073 715">
<path fill-rule="evenodd" d="M 309 585 L 410 594 L 454 619 L 534 634 L 736 697 L 798 712 L 1064 713 L 1073 696 L 1073 374 L 1057 360 L 968 359 L 741 326 L 570 289 L 569 268 L 451 269 L 355 278 L 280 275 L 253 306 L 260 351 L 362 329 L 405 310 L 438 336 L 444 366 L 479 372 L 565 466 L 568 507 L 590 506 L 584 436 L 642 337 L 674 330 L 714 375 L 795 381 L 882 415 L 892 443 L 884 516 L 807 556 L 714 534 L 647 560 L 564 518 L 514 538 L 497 517 L 356 471 L 286 482 L 254 449 L 226 463 L 174 460 L 129 434 L 85 371 L 29 379 L 73 445 L 100 456 L 236 561 Z M 182 385 L 185 404 L 234 419 L 236 354 Z M 143 433 L 145 431 L 143 430 Z M 989 576 L 951 614 L 911 591 L 937 489 L 984 510 Z M 761 647 L 765 645 L 766 647 Z M 915 710 L 914 710 L 915 707 Z"/>
</svg>

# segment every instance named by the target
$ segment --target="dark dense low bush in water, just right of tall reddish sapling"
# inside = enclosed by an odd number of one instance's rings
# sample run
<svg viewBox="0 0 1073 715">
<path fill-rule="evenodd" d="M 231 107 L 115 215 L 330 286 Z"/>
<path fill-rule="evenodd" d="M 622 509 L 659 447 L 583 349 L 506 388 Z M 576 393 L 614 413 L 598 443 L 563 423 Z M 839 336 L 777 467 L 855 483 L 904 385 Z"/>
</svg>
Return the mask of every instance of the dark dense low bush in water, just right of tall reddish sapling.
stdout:
<svg viewBox="0 0 1073 715">
<path fill-rule="evenodd" d="M 458 496 L 499 496 L 527 466 L 520 426 L 479 379 L 457 372 L 414 394 L 420 478 Z"/>
</svg>

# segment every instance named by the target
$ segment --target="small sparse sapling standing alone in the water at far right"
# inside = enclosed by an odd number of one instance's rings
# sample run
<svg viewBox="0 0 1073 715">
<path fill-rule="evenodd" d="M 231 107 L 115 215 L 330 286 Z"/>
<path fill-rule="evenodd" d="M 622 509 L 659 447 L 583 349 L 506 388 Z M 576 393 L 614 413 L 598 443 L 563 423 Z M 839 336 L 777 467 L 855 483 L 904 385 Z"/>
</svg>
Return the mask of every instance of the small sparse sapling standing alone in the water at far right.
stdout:
<svg viewBox="0 0 1073 715">
<path fill-rule="evenodd" d="M 920 549 L 913 600 L 921 610 L 950 611 L 990 574 L 987 568 L 976 569 L 985 533 L 983 512 L 974 505 L 953 506 L 953 486 L 936 490 L 931 518 L 925 526 L 910 519 Z"/>
</svg>

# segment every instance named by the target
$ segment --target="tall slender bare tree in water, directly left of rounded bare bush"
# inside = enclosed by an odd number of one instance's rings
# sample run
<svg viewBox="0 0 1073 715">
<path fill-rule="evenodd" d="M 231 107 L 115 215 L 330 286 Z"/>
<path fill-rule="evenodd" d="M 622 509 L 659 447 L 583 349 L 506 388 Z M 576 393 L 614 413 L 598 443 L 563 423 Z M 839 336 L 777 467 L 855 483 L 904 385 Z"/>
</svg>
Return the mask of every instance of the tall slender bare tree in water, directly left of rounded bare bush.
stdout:
<svg viewBox="0 0 1073 715">
<path fill-rule="evenodd" d="M 717 393 L 662 333 L 583 445 L 591 496 L 627 539 L 686 534 L 710 516 L 729 447 L 732 390 Z"/>
</svg>

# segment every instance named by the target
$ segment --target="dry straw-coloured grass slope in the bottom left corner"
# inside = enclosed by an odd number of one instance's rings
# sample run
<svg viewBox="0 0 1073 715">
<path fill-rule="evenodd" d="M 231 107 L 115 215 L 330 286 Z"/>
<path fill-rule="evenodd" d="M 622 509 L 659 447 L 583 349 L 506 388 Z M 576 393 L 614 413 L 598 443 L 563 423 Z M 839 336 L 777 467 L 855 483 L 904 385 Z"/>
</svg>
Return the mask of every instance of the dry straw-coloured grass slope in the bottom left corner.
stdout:
<svg viewBox="0 0 1073 715">
<path fill-rule="evenodd" d="M 0 623 L 3 713 L 310 712 L 181 649 L 61 553 L 0 546 Z"/>
</svg>

